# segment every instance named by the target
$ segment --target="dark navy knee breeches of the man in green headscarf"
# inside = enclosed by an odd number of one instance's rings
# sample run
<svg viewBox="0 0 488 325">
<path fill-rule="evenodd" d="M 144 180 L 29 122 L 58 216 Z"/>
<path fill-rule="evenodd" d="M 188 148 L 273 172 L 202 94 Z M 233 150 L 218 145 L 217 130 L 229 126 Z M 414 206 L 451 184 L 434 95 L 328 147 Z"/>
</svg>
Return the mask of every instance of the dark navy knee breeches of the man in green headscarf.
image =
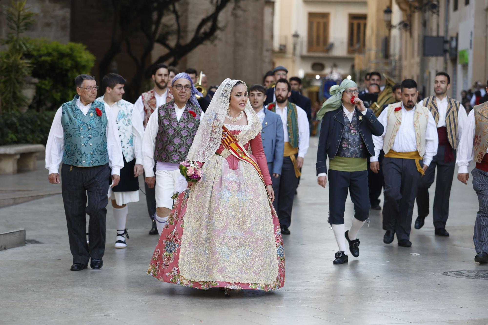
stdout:
<svg viewBox="0 0 488 325">
<path fill-rule="evenodd" d="M 354 203 L 354 218 L 366 221 L 369 216 L 367 171 L 345 172 L 329 169 L 329 223 L 343 224 L 347 192 Z"/>
</svg>

